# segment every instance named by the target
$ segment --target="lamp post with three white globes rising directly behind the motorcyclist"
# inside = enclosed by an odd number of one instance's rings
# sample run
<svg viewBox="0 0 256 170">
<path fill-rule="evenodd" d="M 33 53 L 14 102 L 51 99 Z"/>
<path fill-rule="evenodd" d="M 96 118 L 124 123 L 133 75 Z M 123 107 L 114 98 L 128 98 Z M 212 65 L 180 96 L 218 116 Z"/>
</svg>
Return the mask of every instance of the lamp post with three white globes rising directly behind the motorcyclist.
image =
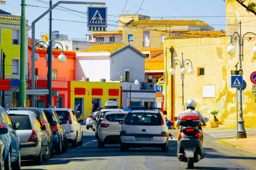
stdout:
<svg viewBox="0 0 256 170">
<path fill-rule="evenodd" d="M 181 80 L 182 80 L 182 82 L 181 82 L 181 85 L 182 85 L 182 107 L 183 107 L 183 105 L 184 105 L 184 89 L 183 89 L 183 87 L 184 87 L 184 81 L 183 81 L 183 79 L 184 79 L 184 74 L 186 74 L 186 72 L 187 72 L 187 70 L 186 70 L 186 68 L 185 68 L 185 62 L 186 62 L 186 61 L 189 61 L 190 64 L 191 64 L 191 68 L 188 70 L 188 73 L 189 73 L 189 74 L 194 74 L 195 70 L 194 70 L 193 67 L 192 67 L 192 62 L 191 62 L 191 60 L 189 60 L 189 59 L 183 60 L 183 53 L 181 53 L 181 56 L 182 56 L 182 60 L 181 60 L 181 61 L 178 60 L 178 59 L 175 59 L 175 60 L 172 61 L 172 63 L 171 63 L 171 68 L 169 69 L 169 73 L 170 73 L 171 75 L 175 74 L 175 69 L 172 68 L 172 64 L 175 63 L 175 62 L 180 62 L 180 65 L 181 65 Z M 187 62 L 186 65 L 189 65 L 189 62 Z M 185 108 L 184 108 L 184 110 L 185 110 Z"/>
</svg>

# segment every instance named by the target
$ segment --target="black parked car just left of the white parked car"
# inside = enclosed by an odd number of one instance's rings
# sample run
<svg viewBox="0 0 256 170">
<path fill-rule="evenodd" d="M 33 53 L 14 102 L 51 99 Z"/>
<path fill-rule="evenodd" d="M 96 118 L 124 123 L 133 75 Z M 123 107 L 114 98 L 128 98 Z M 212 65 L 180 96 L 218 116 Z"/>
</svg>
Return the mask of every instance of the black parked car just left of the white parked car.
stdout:
<svg viewBox="0 0 256 170">
<path fill-rule="evenodd" d="M 44 108 L 43 111 L 52 126 L 53 149 L 55 149 L 57 154 L 67 152 L 68 139 L 66 138 L 65 129 L 61 126 L 62 123 L 65 124 L 66 122 L 60 121 L 57 113 L 51 108 Z"/>
</svg>

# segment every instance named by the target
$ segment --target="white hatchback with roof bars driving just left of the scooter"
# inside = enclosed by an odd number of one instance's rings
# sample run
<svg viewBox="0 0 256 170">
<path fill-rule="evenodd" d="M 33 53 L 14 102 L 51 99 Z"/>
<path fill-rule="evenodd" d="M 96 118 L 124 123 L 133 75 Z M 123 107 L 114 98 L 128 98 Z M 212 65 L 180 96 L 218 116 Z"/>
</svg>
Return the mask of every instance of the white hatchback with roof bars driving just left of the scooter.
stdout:
<svg viewBox="0 0 256 170">
<path fill-rule="evenodd" d="M 162 152 L 167 152 L 168 126 L 158 111 L 130 111 L 122 124 L 120 139 L 121 152 L 138 147 L 161 148 Z"/>
</svg>

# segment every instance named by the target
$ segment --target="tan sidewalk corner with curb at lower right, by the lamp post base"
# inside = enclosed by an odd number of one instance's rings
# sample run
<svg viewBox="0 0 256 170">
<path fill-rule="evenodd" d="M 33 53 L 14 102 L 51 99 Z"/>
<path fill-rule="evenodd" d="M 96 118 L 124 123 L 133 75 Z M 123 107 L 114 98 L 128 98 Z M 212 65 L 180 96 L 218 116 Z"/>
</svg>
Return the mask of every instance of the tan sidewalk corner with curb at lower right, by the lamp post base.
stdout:
<svg viewBox="0 0 256 170">
<path fill-rule="evenodd" d="M 239 138 L 238 140 L 237 138 L 220 139 L 218 142 L 256 155 L 256 135 Z"/>
</svg>

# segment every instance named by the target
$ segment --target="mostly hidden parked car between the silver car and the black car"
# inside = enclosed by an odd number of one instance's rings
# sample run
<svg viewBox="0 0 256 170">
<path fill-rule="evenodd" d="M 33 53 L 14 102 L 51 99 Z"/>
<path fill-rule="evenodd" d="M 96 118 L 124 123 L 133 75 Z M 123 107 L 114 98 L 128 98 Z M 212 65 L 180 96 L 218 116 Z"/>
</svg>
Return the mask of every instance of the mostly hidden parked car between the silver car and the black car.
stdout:
<svg viewBox="0 0 256 170">
<path fill-rule="evenodd" d="M 42 126 L 46 126 L 45 132 L 47 134 L 48 139 L 48 146 L 47 146 L 47 152 L 45 155 L 43 155 L 43 160 L 48 160 L 53 155 L 53 133 L 50 123 L 47 120 L 47 117 L 43 111 L 42 108 L 37 107 L 15 107 L 10 109 L 10 111 L 18 111 L 18 110 L 24 110 L 24 111 L 31 111 L 37 116 L 38 120 L 41 122 Z"/>
</svg>

